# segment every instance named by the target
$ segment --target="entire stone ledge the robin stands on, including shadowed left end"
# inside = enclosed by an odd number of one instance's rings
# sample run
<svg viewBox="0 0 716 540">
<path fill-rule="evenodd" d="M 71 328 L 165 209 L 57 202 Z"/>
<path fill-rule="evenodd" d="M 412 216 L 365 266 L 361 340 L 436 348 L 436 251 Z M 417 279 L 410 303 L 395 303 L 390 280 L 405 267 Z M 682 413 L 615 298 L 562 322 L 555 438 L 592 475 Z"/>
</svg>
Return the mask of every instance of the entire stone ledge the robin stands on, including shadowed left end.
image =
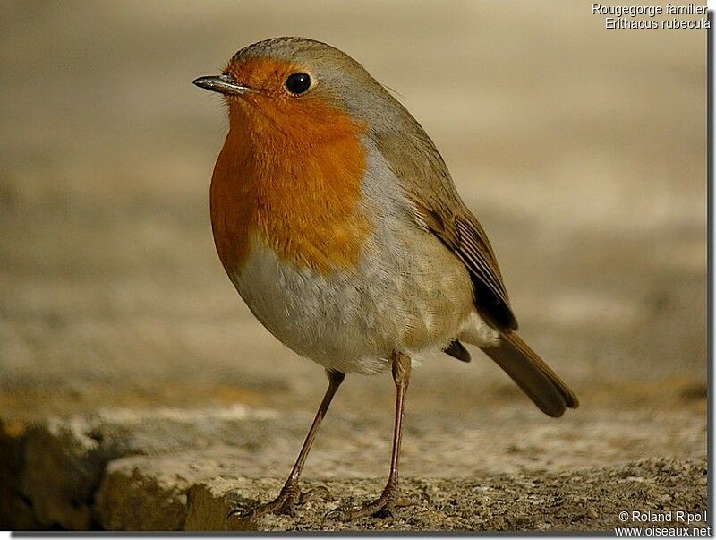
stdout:
<svg viewBox="0 0 716 540">
<path fill-rule="evenodd" d="M 295 520 L 227 520 L 228 507 L 266 501 L 278 492 L 310 422 L 308 410 L 279 413 L 234 405 L 105 409 L 50 418 L 14 436 L 5 427 L 6 453 L 0 464 L 13 471 L 12 496 L 6 501 L 17 512 L 5 522 L 13 528 L 75 530 L 567 529 L 598 523 L 611 527 L 609 512 L 622 497 L 639 508 L 665 495 L 692 506 L 705 497 L 699 476 L 705 428 L 698 415 L 596 409 L 556 422 L 530 407 L 506 405 L 490 416 L 481 411 L 408 416 L 402 475 L 407 478 L 405 494 L 419 503 L 401 510 L 396 521 L 324 524 L 321 512 L 331 504 L 379 493 L 385 478 L 376 475 L 388 469 L 389 415 L 337 410 L 328 416 L 303 476 L 307 489 L 326 484 L 333 498 L 308 503 Z M 672 458 L 638 460 L 660 454 Z M 632 460 L 631 465 L 614 465 L 625 460 Z M 609 478 L 628 467 L 645 471 L 652 487 L 629 494 L 611 485 Z M 589 483 L 578 480 L 583 476 Z M 563 514 L 550 514 L 552 521 L 527 519 L 537 502 L 521 498 L 525 478 L 537 486 L 544 504 L 544 497 L 553 499 L 550 490 L 577 497 L 578 480 L 584 484 L 584 501 L 594 502 L 588 506 L 596 514 L 580 518 L 577 505 L 567 505 L 559 506 Z M 681 492 L 674 491 L 678 486 Z M 479 512 L 468 511 L 473 504 Z"/>
</svg>

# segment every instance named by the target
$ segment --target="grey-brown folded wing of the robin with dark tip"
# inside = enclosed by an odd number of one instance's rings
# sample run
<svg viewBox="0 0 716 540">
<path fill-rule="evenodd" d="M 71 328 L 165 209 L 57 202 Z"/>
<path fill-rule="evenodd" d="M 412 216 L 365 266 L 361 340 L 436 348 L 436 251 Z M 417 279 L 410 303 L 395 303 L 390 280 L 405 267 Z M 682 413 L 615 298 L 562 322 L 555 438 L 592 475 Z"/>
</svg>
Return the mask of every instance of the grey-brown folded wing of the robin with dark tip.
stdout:
<svg viewBox="0 0 716 540">
<path fill-rule="evenodd" d="M 516 330 L 517 321 L 487 234 L 457 194 L 428 135 L 416 122 L 414 125 L 418 130 L 409 131 L 420 135 L 383 133 L 376 139 L 378 149 L 411 201 L 414 219 L 465 264 L 478 313 L 498 330 Z"/>
</svg>

